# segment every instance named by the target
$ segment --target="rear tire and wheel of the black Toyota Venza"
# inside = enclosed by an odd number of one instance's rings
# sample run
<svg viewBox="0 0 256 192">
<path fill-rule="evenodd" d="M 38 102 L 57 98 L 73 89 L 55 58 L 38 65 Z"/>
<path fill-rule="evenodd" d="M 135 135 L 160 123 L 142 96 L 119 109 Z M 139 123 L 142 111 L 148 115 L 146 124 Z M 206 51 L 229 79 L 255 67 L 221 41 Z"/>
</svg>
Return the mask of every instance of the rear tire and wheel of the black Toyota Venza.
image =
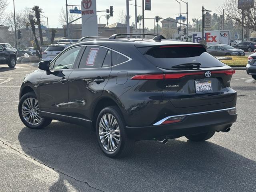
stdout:
<svg viewBox="0 0 256 192">
<path fill-rule="evenodd" d="M 100 111 L 96 121 L 96 136 L 100 149 L 106 156 L 118 158 L 132 152 L 135 141 L 128 138 L 125 126 L 117 106 L 108 106 Z"/>
</svg>

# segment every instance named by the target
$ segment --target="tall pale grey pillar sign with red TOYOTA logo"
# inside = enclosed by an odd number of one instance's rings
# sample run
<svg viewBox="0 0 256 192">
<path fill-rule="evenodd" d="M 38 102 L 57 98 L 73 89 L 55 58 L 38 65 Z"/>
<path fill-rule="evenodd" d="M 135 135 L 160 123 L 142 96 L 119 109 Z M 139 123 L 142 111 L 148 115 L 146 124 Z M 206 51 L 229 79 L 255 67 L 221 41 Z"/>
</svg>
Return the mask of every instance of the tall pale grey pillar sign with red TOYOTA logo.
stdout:
<svg viewBox="0 0 256 192">
<path fill-rule="evenodd" d="M 98 36 L 96 0 L 82 0 L 82 37 Z"/>
</svg>

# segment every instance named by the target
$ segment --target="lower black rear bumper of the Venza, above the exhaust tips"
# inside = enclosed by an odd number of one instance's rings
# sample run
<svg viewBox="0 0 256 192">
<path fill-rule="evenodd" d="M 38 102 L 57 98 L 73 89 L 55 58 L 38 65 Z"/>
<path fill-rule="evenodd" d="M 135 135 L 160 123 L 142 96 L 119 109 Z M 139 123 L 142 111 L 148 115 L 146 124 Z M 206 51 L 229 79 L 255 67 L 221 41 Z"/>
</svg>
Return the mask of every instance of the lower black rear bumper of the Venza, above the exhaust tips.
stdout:
<svg viewBox="0 0 256 192">
<path fill-rule="evenodd" d="M 164 138 L 179 138 L 182 136 L 208 132 L 211 130 L 225 130 L 236 122 L 237 114 L 230 115 L 228 109 L 184 114 L 182 122 L 152 125 L 145 127 L 128 127 L 126 133 L 129 138 L 136 140 L 151 140 Z"/>
</svg>

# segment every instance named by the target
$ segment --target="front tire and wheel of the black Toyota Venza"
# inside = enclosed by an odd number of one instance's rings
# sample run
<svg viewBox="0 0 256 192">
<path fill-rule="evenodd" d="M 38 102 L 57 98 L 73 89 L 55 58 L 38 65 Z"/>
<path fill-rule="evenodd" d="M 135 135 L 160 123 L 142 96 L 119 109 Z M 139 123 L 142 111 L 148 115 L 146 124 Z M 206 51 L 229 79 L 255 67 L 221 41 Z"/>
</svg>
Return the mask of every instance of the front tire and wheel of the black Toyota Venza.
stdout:
<svg viewBox="0 0 256 192">
<path fill-rule="evenodd" d="M 38 100 L 34 92 L 28 92 L 20 98 L 18 112 L 22 123 L 31 129 L 42 129 L 48 126 L 52 119 L 40 117 Z"/>
</svg>

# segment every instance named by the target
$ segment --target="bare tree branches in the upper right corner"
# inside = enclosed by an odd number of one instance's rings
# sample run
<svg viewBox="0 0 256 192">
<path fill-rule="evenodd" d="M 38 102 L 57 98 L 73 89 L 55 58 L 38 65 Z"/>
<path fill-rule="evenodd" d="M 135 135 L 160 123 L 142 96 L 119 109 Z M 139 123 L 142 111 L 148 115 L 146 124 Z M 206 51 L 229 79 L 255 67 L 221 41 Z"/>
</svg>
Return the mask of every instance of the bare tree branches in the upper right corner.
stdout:
<svg viewBox="0 0 256 192">
<path fill-rule="evenodd" d="M 254 6 L 248 7 L 247 10 L 238 9 L 238 0 L 226 0 L 222 6 L 218 8 L 219 14 L 222 14 L 225 9 L 226 15 L 228 14 L 235 22 L 238 22 L 241 26 L 248 27 L 251 30 L 256 30 L 256 1 L 254 0 Z M 242 15 L 244 16 L 244 22 L 242 22 Z M 249 17 L 248 17 L 249 16 Z"/>
</svg>

